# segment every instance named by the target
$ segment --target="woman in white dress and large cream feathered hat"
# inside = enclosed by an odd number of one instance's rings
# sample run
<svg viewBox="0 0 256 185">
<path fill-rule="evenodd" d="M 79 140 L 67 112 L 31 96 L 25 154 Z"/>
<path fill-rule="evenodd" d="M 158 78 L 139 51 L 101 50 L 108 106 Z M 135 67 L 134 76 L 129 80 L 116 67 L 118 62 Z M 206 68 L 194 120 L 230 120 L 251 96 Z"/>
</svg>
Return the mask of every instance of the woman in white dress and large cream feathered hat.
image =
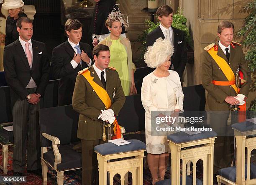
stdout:
<svg viewBox="0 0 256 185">
<path fill-rule="evenodd" d="M 166 116 L 176 117 L 180 112 L 183 112 L 184 94 L 179 75 L 176 71 L 169 70 L 173 51 L 174 47 L 167 39 L 159 38 L 153 46 L 148 47 L 148 51 L 144 55 L 146 64 L 151 68 L 156 68 L 144 77 L 141 88 L 141 101 L 146 111 L 148 167 L 152 175 L 153 185 L 159 180 L 164 180 L 169 158 L 166 136 L 170 132 L 156 131 L 156 127 L 172 126 L 172 122 L 156 124 L 156 119 Z"/>
</svg>

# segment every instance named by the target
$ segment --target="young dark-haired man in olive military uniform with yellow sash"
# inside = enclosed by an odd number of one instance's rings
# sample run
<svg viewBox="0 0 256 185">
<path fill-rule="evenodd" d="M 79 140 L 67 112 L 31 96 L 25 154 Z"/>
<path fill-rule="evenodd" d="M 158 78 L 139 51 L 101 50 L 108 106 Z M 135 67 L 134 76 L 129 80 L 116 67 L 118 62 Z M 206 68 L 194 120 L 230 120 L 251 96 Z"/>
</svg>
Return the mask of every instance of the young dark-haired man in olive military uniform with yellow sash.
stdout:
<svg viewBox="0 0 256 185">
<path fill-rule="evenodd" d="M 114 114 L 125 102 L 118 72 L 108 67 L 108 46 L 95 46 L 92 55 L 95 63 L 78 73 L 73 93 L 73 108 L 80 113 L 77 137 L 82 142 L 83 185 L 95 184 L 98 165 L 94 147 L 103 143 L 102 121 L 113 123 Z"/>
</svg>

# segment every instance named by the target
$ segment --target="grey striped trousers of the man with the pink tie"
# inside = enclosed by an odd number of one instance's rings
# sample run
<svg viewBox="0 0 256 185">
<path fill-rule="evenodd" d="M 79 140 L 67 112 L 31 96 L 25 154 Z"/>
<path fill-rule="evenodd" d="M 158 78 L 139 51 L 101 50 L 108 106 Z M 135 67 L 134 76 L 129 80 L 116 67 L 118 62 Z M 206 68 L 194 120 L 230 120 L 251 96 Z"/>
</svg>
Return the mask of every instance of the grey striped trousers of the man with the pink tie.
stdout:
<svg viewBox="0 0 256 185">
<path fill-rule="evenodd" d="M 34 93 L 36 88 L 27 89 Z M 41 98 L 40 98 L 41 101 Z M 41 102 L 42 103 L 42 102 Z M 38 110 L 40 102 L 30 104 L 27 99 L 18 99 L 13 106 L 13 171 L 24 173 L 27 170 L 37 170 L 40 165 L 40 134 Z"/>
</svg>

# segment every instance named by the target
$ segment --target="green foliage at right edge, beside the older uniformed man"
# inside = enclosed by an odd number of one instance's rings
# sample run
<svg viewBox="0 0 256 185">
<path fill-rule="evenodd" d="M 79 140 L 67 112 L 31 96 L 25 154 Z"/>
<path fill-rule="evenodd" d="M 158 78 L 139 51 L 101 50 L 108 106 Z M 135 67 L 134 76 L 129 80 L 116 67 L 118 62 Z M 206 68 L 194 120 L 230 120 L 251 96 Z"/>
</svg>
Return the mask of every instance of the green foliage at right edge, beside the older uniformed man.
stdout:
<svg viewBox="0 0 256 185">
<path fill-rule="evenodd" d="M 243 45 L 248 48 L 245 58 L 251 72 L 254 72 L 256 69 L 256 0 L 248 3 L 244 9 L 250 13 L 244 20 L 244 26 L 237 34 L 244 37 Z"/>
</svg>

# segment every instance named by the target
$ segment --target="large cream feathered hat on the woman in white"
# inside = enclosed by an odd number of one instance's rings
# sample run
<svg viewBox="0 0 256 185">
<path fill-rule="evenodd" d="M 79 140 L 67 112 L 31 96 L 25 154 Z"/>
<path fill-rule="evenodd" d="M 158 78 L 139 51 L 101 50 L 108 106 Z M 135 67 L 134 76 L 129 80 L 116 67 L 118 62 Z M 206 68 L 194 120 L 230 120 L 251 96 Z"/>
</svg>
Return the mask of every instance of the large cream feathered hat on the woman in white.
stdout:
<svg viewBox="0 0 256 185">
<path fill-rule="evenodd" d="M 174 52 L 174 47 L 166 38 L 158 38 L 153 46 L 148 46 L 148 50 L 144 55 L 144 60 L 148 67 L 157 68 L 167 57 L 171 57 Z"/>
</svg>

